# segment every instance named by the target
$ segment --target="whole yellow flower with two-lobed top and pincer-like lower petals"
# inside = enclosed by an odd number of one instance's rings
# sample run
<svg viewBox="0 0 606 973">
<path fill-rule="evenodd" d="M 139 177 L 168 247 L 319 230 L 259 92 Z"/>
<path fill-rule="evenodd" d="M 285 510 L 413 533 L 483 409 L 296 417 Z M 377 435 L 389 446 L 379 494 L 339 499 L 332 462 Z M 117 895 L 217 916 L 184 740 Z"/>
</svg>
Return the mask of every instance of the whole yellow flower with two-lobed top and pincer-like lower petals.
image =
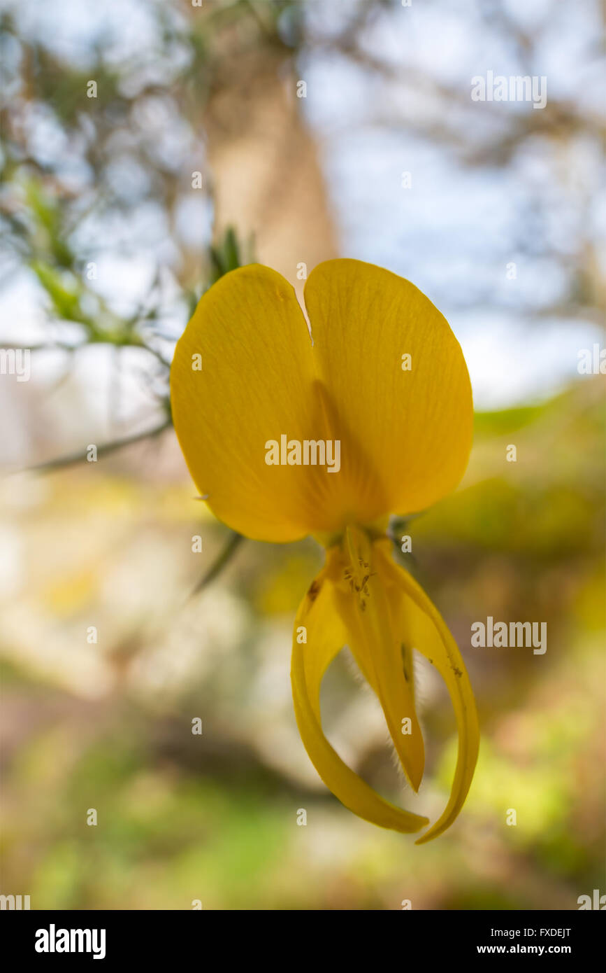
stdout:
<svg viewBox="0 0 606 973">
<path fill-rule="evenodd" d="M 428 819 L 388 803 L 324 737 L 320 682 L 348 644 L 377 694 L 402 767 L 421 783 L 413 650 L 447 684 L 458 728 L 451 797 L 418 843 L 460 811 L 478 755 L 474 698 L 455 640 L 421 587 L 390 557 L 389 514 L 455 488 L 467 465 L 472 397 L 458 342 L 409 281 L 332 260 L 305 286 L 312 338 L 281 274 L 222 277 L 177 344 L 171 399 L 191 476 L 213 513 L 255 540 L 313 534 L 326 562 L 299 607 L 292 695 L 320 777 L 354 813 L 396 831 Z"/>
</svg>

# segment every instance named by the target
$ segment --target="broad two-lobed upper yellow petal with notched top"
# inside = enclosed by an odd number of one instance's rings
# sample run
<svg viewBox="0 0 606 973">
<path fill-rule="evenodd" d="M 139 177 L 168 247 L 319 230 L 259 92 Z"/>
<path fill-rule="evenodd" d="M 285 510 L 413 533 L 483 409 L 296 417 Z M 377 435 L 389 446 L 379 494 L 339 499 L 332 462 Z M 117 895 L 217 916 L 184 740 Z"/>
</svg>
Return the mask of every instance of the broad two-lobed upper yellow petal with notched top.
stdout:
<svg viewBox="0 0 606 973">
<path fill-rule="evenodd" d="M 284 277 L 233 270 L 198 304 L 171 371 L 175 428 L 200 494 L 259 540 L 333 536 L 420 510 L 454 488 L 471 444 L 462 353 L 421 291 L 337 260 L 313 270 L 305 298 L 313 348 Z M 321 461 L 283 465 L 284 442 L 326 441 L 330 472 Z M 268 444 L 280 446 L 280 464 L 268 465 Z"/>
</svg>

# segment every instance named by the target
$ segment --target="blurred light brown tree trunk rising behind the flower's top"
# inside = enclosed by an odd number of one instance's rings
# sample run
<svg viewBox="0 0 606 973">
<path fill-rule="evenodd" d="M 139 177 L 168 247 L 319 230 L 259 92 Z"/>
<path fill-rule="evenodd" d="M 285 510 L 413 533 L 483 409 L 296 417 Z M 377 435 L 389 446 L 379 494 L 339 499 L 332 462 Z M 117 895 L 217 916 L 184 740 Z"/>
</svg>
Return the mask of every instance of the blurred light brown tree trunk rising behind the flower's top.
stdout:
<svg viewBox="0 0 606 973">
<path fill-rule="evenodd" d="M 204 126 L 216 200 L 216 229 L 253 234 L 256 259 L 300 288 L 336 256 L 317 146 L 302 119 L 297 79 L 284 50 L 258 45 L 223 54 Z"/>
</svg>

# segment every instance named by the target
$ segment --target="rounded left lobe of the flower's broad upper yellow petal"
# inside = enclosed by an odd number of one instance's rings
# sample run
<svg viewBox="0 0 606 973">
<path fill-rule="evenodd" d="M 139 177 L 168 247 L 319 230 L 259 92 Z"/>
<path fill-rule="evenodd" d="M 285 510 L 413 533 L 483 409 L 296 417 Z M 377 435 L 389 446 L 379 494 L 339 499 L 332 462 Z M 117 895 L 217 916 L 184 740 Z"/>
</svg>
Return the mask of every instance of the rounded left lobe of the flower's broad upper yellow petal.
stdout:
<svg viewBox="0 0 606 973">
<path fill-rule="evenodd" d="M 260 265 L 221 277 L 177 343 L 171 403 L 189 472 L 219 520 L 253 539 L 291 541 L 321 529 L 314 484 L 326 470 L 265 461 L 266 443 L 283 434 L 322 436 L 313 380 L 294 291 Z"/>
</svg>

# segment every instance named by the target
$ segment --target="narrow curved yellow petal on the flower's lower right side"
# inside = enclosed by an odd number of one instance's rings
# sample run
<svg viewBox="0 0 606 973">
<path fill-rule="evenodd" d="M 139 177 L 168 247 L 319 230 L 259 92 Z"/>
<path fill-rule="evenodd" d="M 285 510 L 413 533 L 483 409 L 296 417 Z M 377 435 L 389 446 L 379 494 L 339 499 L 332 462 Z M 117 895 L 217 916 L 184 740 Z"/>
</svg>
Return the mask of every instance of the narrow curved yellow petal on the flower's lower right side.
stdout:
<svg viewBox="0 0 606 973">
<path fill-rule="evenodd" d="M 396 631 L 438 669 L 455 709 L 458 754 L 451 797 L 442 816 L 418 839 L 421 845 L 450 827 L 465 802 L 480 746 L 478 713 L 467 670 L 444 619 L 408 571 L 393 562 L 389 542 L 380 541 L 375 549 Z"/>
</svg>

